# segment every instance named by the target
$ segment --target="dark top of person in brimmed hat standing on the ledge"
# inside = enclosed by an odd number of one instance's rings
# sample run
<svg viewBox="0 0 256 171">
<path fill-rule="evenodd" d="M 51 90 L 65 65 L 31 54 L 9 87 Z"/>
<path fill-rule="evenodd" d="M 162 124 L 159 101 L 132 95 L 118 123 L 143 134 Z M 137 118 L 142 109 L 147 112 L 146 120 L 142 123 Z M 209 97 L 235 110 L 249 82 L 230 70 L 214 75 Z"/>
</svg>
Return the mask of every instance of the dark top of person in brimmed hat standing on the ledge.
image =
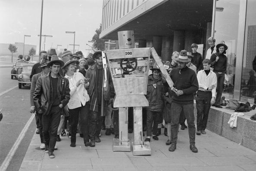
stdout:
<svg viewBox="0 0 256 171">
<path fill-rule="evenodd" d="M 216 57 L 219 57 L 217 62 Z M 227 57 L 225 54 L 219 54 L 216 52 L 212 54 L 210 61 L 211 66 L 213 67 L 213 72 L 227 72 Z"/>
</svg>

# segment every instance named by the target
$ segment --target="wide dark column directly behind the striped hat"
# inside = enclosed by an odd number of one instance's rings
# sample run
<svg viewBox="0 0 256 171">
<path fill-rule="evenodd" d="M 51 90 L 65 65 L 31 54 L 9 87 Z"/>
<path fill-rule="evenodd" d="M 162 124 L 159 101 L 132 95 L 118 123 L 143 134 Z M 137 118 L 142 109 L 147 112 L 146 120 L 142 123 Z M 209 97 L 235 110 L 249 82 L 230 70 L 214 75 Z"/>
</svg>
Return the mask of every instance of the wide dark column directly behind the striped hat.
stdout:
<svg viewBox="0 0 256 171">
<path fill-rule="evenodd" d="M 185 47 L 185 31 L 175 30 L 173 36 L 173 51 L 181 51 Z"/>
</svg>

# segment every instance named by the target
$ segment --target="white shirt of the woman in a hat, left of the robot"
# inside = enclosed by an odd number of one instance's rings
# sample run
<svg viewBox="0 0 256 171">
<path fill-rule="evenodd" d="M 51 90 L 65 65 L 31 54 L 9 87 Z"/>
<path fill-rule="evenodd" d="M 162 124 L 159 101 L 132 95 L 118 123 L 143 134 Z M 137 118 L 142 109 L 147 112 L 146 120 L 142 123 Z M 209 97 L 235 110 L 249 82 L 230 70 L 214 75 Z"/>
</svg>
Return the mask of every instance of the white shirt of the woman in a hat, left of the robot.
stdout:
<svg viewBox="0 0 256 171">
<path fill-rule="evenodd" d="M 75 72 L 73 77 L 69 77 L 67 74 L 65 78 L 69 80 L 69 89 L 70 89 L 70 100 L 68 103 L 69 109 L 79 108 L 82 105 L 85 105 L 86 102 L 90 100 L 90 97 L 87 93 L 85 87 L 89 86 L 89 82 L 85 84 L 80 84 L 76 87 L 76 84 L 79 80 L 84 79 L 84 75 L 80 72 Z"/>
</svg>

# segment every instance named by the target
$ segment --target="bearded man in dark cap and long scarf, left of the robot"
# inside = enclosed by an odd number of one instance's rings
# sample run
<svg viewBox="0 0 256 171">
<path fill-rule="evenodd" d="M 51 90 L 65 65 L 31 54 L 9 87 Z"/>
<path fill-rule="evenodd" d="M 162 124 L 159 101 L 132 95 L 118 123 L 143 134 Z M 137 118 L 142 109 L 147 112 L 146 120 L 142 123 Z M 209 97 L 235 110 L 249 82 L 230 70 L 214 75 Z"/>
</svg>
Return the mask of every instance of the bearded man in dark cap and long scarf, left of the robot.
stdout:
<svg viewBox="0 0 256 171">
<path fill-rule="evenodd" d="M 99 135 L 103 121 L 102 116 L 105 115 L 104 108 L 109 105 L 114 98 L 115 93 L 109 69 L 107 69 L 108 89 L 105 90 L 103 87 L 105 74 L 103 69 L 102 51 L 96 51 L 93 54 L 93 59 L 95 60 L 95 64 L 87 70 L 85 78 L 89 78 L 90 83 L 88 94 L 91 99 L 90 111 L 92 112 L 92 122 L 97 124 L 94 130 L 94 136 L 91 137 L 91 142 L 100 142 Z"/>
</svg>

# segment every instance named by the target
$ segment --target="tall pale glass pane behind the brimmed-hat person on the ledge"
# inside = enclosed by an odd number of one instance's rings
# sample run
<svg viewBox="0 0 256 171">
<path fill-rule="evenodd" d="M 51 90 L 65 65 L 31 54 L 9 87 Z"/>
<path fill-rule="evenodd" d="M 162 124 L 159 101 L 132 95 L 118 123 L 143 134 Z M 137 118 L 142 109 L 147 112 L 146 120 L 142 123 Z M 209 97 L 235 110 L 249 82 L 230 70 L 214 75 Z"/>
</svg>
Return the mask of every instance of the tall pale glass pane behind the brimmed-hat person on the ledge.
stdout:
<svg viewBox="0 0 256 171">
<path fill-rule="evenodd" d="M 228 46 L 227 74 L 225 75 L 222 96 L 232 99 L 234 94 L 234 77 L 237 53 L 237 35 L 239 20 L 240 0 L 217 0 L 215 10 L 215 45 L 225 41 Z"/>
</svg>

